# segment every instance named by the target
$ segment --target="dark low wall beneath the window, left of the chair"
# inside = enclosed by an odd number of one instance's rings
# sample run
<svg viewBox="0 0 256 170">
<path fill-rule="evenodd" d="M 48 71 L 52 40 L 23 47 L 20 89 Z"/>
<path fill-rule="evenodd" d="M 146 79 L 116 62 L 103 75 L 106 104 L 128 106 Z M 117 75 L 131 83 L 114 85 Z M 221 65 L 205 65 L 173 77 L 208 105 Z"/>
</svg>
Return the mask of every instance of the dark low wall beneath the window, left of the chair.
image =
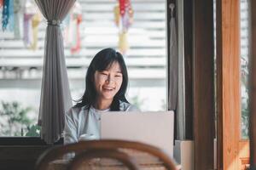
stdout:
<svg viewBox="0 0 256 170">
<path fill-rule="evenodd" d="M 0 138 L 0 170 L 33 170 L 38 157 L 45 150 L 63 144 L 45 144 L 36 137 Z"/>
</svg>

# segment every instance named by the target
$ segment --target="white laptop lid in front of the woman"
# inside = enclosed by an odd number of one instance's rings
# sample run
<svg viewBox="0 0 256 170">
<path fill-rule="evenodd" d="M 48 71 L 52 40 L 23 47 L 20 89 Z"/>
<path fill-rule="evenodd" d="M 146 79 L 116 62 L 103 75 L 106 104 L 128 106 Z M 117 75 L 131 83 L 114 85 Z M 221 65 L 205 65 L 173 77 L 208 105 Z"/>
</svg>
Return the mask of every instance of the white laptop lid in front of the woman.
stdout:
<svg viewBox="0 0 256 170">
<path fill-rule="evenodd" d="M 154 145 L 173 155 L 173 111 L 101 114 L 101 139 L 125 139 Z"/>
</svg>

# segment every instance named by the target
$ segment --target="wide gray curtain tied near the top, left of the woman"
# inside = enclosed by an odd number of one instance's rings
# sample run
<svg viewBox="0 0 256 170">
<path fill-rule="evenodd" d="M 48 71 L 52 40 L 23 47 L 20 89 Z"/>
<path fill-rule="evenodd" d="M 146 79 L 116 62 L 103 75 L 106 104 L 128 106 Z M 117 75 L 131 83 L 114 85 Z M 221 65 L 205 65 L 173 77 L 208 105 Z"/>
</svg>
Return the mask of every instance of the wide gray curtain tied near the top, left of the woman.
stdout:
<svg viewBox="0 0 256 170">
<path fill-rule="evenodd" d="M 48 20 L 38 125 L 42 127 L 41 138 L 47 144 L 53 144 L 60 139 L 65 124 L 65 112 L 72 106 L 60 24 L 75 0 L 35 2 Z"/>
</svg>

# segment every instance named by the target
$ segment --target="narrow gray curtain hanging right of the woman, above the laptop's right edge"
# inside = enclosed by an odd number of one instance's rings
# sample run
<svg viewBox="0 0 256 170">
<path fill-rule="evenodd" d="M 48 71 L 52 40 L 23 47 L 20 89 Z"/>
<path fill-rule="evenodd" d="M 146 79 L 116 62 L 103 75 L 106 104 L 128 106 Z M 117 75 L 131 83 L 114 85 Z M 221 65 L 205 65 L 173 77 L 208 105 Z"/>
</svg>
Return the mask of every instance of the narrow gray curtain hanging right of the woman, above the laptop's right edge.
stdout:
<svg viewBox="0 0 256 170">
<path fill-rule="evenodd" d="M 173 16 L 174 4 L 170 4 L 170 72 L 168 87 L 168 110 L 176 113 L 177 139 L 185 139 L 185 92 L 183 61 L 183 1 L 177 2 L 177 18 L 179 31 L 177 35 L 176 20 Z M 178 40 L 178 41 L 177 41 Z"/>
</svg>

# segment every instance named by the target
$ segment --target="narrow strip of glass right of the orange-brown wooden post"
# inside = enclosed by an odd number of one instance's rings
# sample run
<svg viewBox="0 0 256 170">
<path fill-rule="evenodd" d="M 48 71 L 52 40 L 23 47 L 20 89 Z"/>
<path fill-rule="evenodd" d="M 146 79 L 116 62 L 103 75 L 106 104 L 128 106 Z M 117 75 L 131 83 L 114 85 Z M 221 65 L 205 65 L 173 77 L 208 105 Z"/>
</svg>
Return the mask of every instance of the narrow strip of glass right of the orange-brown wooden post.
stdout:
<svg viewBox="0 0 256 170">
<path fill-rule="evenodd" d="M 248 0 L 241 0 L 241 138 L 248 139 Z"/>
</svg>

